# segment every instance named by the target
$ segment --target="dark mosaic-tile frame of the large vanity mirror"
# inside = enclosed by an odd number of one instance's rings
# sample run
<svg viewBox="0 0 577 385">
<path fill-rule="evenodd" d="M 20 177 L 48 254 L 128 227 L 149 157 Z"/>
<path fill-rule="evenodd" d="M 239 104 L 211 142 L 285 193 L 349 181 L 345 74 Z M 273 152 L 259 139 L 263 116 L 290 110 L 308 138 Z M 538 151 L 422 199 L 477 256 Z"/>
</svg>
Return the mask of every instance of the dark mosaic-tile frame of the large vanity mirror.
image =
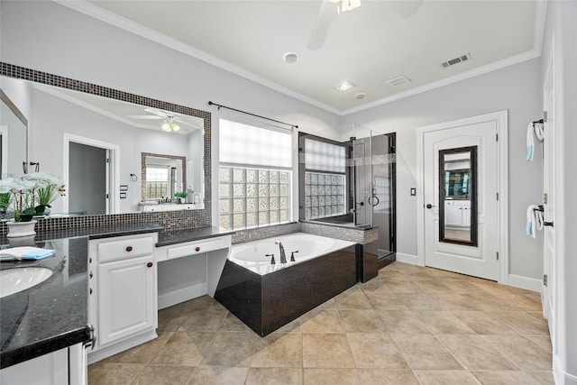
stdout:
<svg viewBox="0 0 577 385">
<path fill-rule="evenodd" d="M 196 116 L 203 119 L 204 131 L 204 154 L 203 154 L 203 170 L 204 170 L 204 208 L 199 208 L 195 210 L 181 210 L 187 215 L 192 216 L 195 226 L 198 225 L 211 225 L 212 224 L 212 192 L 211 192 L 211 113 L 203 110 L 198 110 L 196 108 L 188 107 L 185 105 L 176 105 L 173 103 L 165 102 L 162 100 L 154 99 L 147 96 L 140 96 L 124 92 L 118 89 L 99 86 L 93 83 L 87 83 L 81 80 L 76 80 L 73 78 L 65 78 L 60 75 L 50 74 L 48 72 L 42 72 L 36 69 L 27 69 L 24 67 L 15 66 L 14 64 L 5 63 L 0 61 L 0 76 L 5 76 L 8 78 L 20 78 L 23 80 L 32 81 L 35 83 L 41 83 L 48 86 L 66 88 L 74 91 L 85 92 L 87 94 L 92 94 L 96 96 L 103 96 L 111 98 L 114 100 L 120 100 L 134 105 L 145 105 L 154 108 L 159 108 L 166 111 L 172 111 L 181 115 Z M 27 151 L 28 143 L 30 139 L 27 136 Z M 174 213 L 179 213 L 180 211 L 170 211 L 170 212 L 157 212 L 156 215 L 160 213 L 168 213 L 167 215 L 174 215 Z M 133 214 L 133 213 L 130 213 Z M 136 213 L 138 214 L 138 213 Z M 152 214 L 152 213 L 148 213 Z M 117 213 L 112 215 L 126 215 L 126 213 Z M 110 216 L 110 215 L 87 215 L 87 216 Z M 124 216 L 123 216 L 124 217 Z M 185 220 L 189 222 L 189 220 Z"/>
</svg>

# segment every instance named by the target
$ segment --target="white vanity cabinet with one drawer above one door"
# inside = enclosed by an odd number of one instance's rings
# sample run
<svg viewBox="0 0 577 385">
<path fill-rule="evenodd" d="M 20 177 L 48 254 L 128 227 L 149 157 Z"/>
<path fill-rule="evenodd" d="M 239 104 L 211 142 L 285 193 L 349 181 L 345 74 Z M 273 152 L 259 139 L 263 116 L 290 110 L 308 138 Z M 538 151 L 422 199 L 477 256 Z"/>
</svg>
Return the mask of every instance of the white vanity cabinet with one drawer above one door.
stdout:
<svg viewBox="0 0 577 385">
<path fill-rule="evenodd" d="M 157 336 L 156 240 L 152 233 L 90 241 L 88 319 L 96 346 L 88 362 Z"/>
</svg>

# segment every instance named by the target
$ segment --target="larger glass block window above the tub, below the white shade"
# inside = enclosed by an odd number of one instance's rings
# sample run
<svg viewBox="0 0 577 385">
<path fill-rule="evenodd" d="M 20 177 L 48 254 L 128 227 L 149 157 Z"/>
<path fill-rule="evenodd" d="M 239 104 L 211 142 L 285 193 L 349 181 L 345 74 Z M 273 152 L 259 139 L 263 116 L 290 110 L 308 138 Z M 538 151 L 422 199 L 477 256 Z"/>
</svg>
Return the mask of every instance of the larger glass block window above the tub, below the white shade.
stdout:
<svg viewBox="0 0 577 385">
<path fill-rule="evenodd" d="M 290 221 L 289 170 L 220 167 L 220 227 L 238 230 Z"/>
</svg>

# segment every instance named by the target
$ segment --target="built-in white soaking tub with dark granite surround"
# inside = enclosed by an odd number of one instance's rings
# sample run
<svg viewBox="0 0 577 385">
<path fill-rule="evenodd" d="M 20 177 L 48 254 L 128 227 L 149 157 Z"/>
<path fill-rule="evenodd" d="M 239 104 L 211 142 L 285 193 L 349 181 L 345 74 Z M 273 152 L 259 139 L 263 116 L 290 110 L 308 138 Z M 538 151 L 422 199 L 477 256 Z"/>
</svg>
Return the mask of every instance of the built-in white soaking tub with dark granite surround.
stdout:
<svg viewBox="0 0 577 385">
<path fill-rule="evenodd" d="M 275 242 L 283 244 L 287 263 L 280 263 Z M 215 298 L 256 333 L 268 335 L 356 284 L 354 244 L 303 233 L 235 244 Z M 265 254 L 274 254 L 276 263 Z"/>
</svg>

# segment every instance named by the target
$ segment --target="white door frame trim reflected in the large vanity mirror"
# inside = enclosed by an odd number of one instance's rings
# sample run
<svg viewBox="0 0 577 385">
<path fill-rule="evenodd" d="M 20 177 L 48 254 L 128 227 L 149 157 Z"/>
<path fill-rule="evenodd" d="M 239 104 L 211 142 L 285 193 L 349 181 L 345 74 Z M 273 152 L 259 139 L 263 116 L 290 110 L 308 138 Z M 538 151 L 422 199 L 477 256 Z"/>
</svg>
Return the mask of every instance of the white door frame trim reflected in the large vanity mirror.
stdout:
<svg viewBox="0 0 577 385">
<path fill-rule="evenodd" d="M 106 214 L 120 214 L 120 146 L 112 143 L 96 141 L 96 139 L 78 136 L 73 133 L 63 133 L 62 146 L 62 179 L 64 185 L 69 186 L 69 162 L 70 162 L 70 142 L 86 144 L 88 146 L 98 147 L 110 151 L 110 203 L 108 208 L 109 213 Z M 62 197 L 62 211 L 68 213 L 69 211 L 69 196 Z"/>
</svg>

